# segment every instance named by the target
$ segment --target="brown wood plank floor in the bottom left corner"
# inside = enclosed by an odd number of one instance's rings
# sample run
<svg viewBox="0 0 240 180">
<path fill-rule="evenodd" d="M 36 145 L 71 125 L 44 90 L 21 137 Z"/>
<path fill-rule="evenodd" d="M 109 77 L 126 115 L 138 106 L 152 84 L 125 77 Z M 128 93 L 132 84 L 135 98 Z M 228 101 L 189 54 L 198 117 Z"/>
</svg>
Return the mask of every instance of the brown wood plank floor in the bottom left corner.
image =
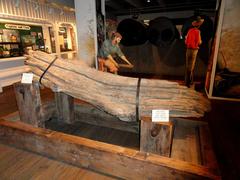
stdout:
<svg viewBox="0 0 240 180">
<path fill-rule="evenodd" d="M 110 180 L 115 178 L 0 144 L 0 179 Z"/>
</svg>

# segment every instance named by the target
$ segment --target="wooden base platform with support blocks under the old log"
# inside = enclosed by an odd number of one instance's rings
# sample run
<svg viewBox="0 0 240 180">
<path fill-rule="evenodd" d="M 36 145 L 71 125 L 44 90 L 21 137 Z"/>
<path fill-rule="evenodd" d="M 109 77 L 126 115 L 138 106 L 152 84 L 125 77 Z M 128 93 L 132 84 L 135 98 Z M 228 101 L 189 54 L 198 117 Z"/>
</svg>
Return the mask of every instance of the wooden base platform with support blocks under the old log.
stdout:
<svg viewBox="0 0 240 180">
<path fill-rule="evenodd" d="M 124 179 L 221 178 L 205 122 L 129 123 L 62 93 L 42 104 L 37 84 L 17 84 L 15 91 L 21 122 L 0 120 L 0 143 Z"/>
</svg>

